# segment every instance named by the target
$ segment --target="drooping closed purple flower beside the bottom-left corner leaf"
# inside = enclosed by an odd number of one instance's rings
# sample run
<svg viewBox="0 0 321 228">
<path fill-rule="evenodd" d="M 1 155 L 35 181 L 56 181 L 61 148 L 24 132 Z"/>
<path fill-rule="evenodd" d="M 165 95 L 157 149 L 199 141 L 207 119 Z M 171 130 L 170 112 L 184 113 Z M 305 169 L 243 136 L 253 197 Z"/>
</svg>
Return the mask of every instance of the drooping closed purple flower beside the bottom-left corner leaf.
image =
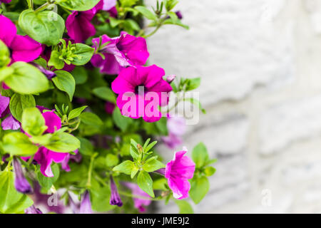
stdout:
<svg viewBox="0 0 321 228">
<path fill-rule="evenodd" d="M 22 171 L 20 162 L 16 157 L 14 157 L 14 174 L 14 186 L 16 187 L 16 190 L 24 194 L 31 193 L 31 185 L 28 180 L 26 180 L 26 177 L 24 177 L 24 172 Z"/>
</svg>

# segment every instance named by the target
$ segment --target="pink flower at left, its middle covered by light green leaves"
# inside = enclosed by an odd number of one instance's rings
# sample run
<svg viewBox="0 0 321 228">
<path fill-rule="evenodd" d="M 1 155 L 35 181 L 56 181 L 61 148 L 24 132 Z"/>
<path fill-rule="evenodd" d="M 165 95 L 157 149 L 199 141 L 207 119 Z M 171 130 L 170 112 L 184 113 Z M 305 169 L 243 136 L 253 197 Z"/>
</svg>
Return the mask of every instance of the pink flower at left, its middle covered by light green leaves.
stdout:
<svg viewBox="0 0 321 228">
<path fill-rule="evenodd" d="M 42 113 L 45 119 L 45 124 L 48 127 L 45 133 L 54 133 L 61 128 L 61 119 L 54 113 L 54 111 L 47 111 Z M 41 173 L 46 177 L 54 177 L 54 173 L 51 170 L 51 163 L 62 163 L 68 157 L 68 152 L 54 152 L 48 150 L 46 147 L 40 147 L 34 155 L 34 160 L 40 165 Z M 23 157 L 24 160 L 28 160 L 29 157 Z M 65 168 L 67 168 L 65 166 Z M 67 168 L 68 170 L 68 168 Z"/>
</svg>

